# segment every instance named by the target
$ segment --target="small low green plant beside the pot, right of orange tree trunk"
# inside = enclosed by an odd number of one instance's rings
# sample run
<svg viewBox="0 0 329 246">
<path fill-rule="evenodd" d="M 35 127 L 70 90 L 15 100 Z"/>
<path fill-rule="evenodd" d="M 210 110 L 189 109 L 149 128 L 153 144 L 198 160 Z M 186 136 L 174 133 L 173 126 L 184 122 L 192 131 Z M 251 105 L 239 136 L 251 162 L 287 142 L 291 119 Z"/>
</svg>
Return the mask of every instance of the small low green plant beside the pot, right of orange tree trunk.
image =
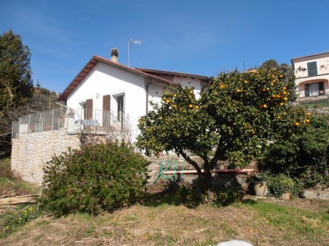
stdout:
<svg viewBox="0 0 329 246">
<path fill-rule="evenodd" d="M 302 190 L 300 182 L 286 174 L 265 176 L 263 178 L 267 182 L 269 195 L 273 197 L 281 197 L 284 193 L 290 193 L 292 196 L 296 196 Z"/>
</svg>

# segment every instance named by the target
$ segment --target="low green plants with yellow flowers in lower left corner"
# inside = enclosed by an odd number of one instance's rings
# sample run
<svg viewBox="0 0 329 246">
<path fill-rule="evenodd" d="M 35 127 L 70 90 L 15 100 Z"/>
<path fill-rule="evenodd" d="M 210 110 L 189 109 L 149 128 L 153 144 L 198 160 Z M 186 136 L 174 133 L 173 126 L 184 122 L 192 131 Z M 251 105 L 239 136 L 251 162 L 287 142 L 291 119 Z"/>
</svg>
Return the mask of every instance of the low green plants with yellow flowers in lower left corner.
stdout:
<svg viewBox="0 0 329 246">
<path fill-rule="evenodd" d="M 0 238 L 8 236 L 17 228 L 38 218 L 41 211 L 36 205 L 21 204 L 15 210 L 0 214 Z"/>
</svg>

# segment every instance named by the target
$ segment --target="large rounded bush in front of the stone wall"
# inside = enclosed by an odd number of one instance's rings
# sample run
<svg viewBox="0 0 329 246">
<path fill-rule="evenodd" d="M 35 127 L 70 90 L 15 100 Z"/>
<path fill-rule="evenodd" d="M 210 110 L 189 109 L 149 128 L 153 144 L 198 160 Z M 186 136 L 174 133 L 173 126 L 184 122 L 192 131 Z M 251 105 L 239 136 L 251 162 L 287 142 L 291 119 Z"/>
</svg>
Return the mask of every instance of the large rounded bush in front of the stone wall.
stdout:
<svg viewBox="0 0 329 246">
<path fill-rule="evenodd" d="M 147 161 L 124 143 L 101 143 L 53 156 L 45 167 L 43 208 L 54 215 L 98 213 L 136 202 Z"/>
</svg>

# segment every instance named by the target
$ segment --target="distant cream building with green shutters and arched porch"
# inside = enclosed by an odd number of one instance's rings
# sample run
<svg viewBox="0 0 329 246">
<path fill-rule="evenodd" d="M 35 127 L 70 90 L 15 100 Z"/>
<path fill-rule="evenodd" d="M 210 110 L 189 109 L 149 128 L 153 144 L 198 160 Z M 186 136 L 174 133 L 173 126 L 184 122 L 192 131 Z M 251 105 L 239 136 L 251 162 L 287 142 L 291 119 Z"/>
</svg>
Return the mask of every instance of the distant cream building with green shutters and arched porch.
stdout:
<svg viewBox="0 0 329 246">
<path fill-rule="evenodd" d="M 295 71 L 297 101 L 327 102 L 329 81 L 329 53 L 291 59 Z"/>
</svg>

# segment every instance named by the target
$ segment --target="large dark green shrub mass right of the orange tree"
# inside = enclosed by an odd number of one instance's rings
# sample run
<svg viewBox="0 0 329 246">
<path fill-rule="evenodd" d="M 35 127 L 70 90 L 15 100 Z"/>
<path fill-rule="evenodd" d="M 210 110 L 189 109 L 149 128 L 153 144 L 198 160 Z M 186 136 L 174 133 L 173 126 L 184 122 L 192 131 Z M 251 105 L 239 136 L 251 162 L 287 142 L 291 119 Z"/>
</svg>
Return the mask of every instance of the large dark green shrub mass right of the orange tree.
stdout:
<svg viewBox="0 0 329 246">
<path fill-rule="evenodd" d="M 306 120 L 310 121 L 307 131 L 278 139 L 265 151 L 259 165 L 271 174 L 299 178 L 305 188 L 329 181 L 329 117 L 306 113 Z"/>
</svg>

